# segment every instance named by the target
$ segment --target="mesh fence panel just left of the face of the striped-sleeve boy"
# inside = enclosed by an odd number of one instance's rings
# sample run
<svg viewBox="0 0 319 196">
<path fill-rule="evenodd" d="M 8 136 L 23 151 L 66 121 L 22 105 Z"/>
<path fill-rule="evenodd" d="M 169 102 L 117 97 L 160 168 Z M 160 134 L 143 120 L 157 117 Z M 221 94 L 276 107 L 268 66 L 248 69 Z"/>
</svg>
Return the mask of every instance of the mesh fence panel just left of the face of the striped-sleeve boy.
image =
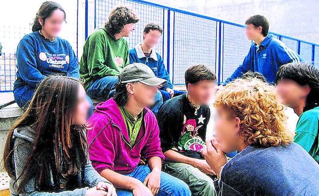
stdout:
<svg viewBox="0 0 319 196">
<path fill-rule="evenodd" d="M 243 35 L 244 27 L 224 23 L 222 29 L 221 81 L 223 82 L 242 64 L 252 42 Z"/>
</svg>

